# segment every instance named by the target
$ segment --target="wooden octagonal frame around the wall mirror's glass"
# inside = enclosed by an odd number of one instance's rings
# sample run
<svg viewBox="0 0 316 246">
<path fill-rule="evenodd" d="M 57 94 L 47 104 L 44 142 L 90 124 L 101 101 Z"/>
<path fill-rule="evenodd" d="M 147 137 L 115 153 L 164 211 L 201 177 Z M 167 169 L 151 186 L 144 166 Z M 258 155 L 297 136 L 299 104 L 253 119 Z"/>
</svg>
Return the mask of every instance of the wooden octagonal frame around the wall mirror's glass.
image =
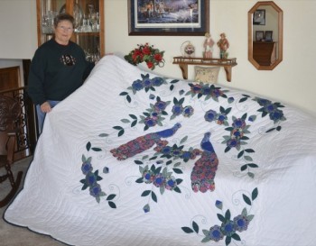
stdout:
<svg viewBox="0 0 316 246">
<path fill-rule="evenodd" d="M 279 33 L 277 42 L 277 59 L 275 59 L 274 64 L 270 66 L 260 65 L 253 56 L 253 14 L 258 7 L 264 5 L 272 6 L 278 14 Z M 283 60 L 283 10 L 278 5 L 275 5 L 273 1 L 257 2 L 256 5 L 248 11 L 248 60 L 258 70 L 273 70 Z"/>
</svg>

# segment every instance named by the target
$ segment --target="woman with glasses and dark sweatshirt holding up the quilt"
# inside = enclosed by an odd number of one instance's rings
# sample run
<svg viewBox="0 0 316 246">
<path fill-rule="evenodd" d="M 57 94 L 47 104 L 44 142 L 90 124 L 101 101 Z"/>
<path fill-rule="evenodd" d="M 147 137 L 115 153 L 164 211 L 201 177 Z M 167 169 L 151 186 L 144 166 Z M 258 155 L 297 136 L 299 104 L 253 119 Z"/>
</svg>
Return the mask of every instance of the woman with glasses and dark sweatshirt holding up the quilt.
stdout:
<svg viewBox="0 0 316 246">
<path fill-rule="evenodd" d="M 77 43 L 70 41 L 73 28 L 70 14 L 57 15 L 53 38 L 43 43 L 32 59 L 28 94 L 36 105 L 40 133 L 45 115 L 78 89 L 95 65 L 86 60 Z"/>
</svg>

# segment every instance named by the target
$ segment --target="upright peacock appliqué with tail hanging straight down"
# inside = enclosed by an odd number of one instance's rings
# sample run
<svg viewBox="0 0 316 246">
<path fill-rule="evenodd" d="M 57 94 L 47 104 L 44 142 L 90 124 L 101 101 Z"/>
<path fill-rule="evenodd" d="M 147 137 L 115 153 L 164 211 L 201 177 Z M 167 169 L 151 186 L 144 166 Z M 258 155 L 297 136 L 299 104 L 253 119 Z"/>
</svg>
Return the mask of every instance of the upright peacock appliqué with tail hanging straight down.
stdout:
<svg viewBox="0 0 316 246">
<path fill-rule="evenodd" d="M 214 178 L 218 169 L 218 156 L 209 140 L 210 132 L 204 133 L 200 142 L 201 157 L 198 159 L 191 172 L 191 187 L 194 192 L 205 193 L 214 191 Z"/>
</svg>

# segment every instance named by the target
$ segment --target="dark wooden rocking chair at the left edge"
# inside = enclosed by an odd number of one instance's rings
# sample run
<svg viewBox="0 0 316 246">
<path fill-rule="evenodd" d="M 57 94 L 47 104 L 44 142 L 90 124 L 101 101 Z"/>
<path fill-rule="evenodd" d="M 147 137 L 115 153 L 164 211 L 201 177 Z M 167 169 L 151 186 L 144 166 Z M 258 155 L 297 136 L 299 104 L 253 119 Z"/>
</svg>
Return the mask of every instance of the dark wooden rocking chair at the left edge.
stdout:
<svg viewBox="0 0 316 246">
<path fill-rule="evenodd" d="M 6 153 L 0 154 L 0 168 L 5 168 L 5 175 L 0 176 L 0 183 L 6 179 L 10 181 L 11 189 L 0 197 L 0 207 L 7 205 L 16 194 L 22 179 L 23 172 L 19 171 L 16 179 L 11 170 L 14 163 L 14 153 L 18 131 L 18 119 L 21 114 L 21 106 L 18 101 L 10 96 L 0 95 L 0 132 L 5 134 Z"/>
</svg>

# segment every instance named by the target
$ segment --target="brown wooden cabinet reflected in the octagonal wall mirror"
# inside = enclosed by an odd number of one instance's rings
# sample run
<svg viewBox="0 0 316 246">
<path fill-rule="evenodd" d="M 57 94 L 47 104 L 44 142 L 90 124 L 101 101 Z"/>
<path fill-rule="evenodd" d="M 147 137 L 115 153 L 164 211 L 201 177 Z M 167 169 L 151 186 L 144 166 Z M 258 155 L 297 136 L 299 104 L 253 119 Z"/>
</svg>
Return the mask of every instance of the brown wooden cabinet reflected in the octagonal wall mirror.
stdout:
<svg viewBox="0 0 316 246">
<path fill-rule="evenodd" d="M 274 64 L 275 54 L 274 41 L 254 41 L 253 56 L 259 65 L 270 66 Z"/>
</svg>

